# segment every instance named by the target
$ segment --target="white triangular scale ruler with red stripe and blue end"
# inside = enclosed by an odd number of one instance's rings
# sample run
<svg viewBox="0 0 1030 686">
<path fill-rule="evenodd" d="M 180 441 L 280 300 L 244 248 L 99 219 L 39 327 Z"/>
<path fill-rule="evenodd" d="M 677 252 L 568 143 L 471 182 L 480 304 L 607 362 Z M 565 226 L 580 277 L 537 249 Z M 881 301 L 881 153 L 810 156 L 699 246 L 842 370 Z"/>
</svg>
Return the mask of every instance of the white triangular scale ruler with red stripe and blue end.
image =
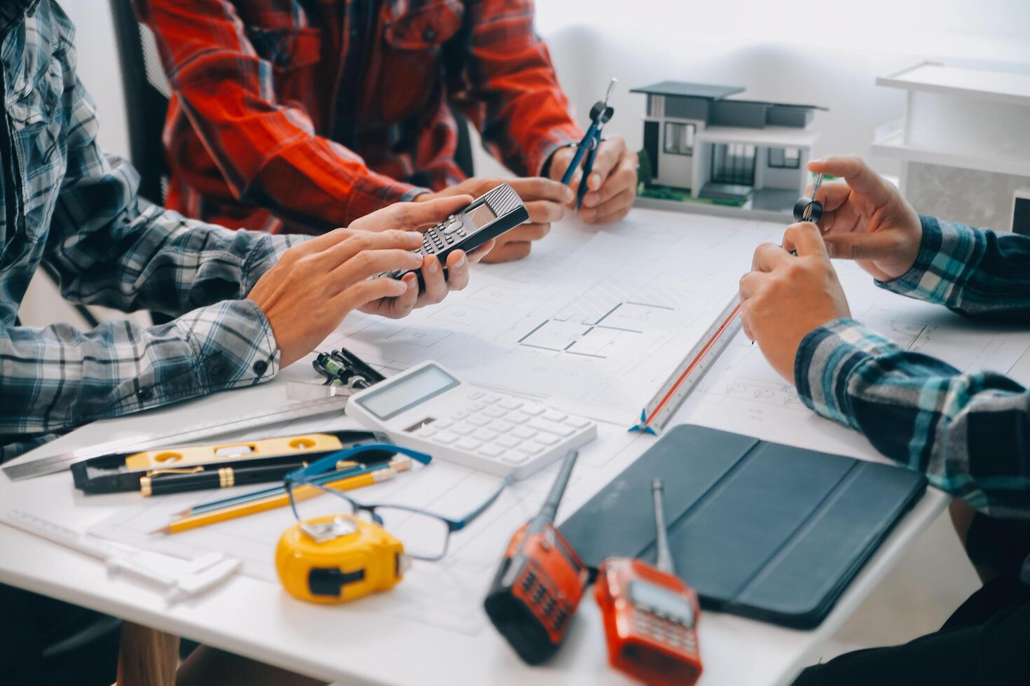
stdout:
<svg viewBox="0 0 1030 686">
<path fill-rule="evenodd" d="M 705 372 L 715 363 L 741 330 L 741 298 L 734 295 L 683 362 L 677 366 L 654 398 L 641 411 L 640 423 L 630 431 L 655 435 L 668 424 L 676 410 L 693 393 Z"/>
</svg>

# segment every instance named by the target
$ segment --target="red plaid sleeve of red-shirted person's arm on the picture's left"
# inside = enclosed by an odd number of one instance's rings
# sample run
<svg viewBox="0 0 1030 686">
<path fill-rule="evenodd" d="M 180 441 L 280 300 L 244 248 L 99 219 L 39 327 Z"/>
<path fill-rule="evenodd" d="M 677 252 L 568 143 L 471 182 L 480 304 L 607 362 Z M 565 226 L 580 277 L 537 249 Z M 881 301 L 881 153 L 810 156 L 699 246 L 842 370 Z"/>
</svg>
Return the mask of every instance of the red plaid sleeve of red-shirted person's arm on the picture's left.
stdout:
<svg viewBox="0 0 1030 686">
<path fill-rule="evenodd" d="M 136 0 L 172 88 L 234 196 L 286 221 L 329 230 L 425 189 L 370 170 L 315 135 L 309 113 L 280 102 L 276 66 L 259 57 L 228 0 Z"/>
</svg>

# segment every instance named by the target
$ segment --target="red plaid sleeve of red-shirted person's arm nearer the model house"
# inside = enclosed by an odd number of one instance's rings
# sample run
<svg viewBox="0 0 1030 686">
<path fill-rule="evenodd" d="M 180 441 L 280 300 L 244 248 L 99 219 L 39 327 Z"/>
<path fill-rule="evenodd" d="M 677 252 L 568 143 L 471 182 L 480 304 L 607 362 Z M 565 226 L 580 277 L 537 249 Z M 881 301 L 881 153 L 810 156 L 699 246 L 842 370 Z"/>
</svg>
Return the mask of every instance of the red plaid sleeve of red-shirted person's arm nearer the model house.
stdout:
<svg viewBox="0 0 1030 686">
<path fill-rule="evenodd" d="M 466 110 L 491 153 L 516 174 L 539 176 L 583 132 L 570 115 L 547 45 L 534 31 L 531 0 L 468 2 Z"/>
</svg>

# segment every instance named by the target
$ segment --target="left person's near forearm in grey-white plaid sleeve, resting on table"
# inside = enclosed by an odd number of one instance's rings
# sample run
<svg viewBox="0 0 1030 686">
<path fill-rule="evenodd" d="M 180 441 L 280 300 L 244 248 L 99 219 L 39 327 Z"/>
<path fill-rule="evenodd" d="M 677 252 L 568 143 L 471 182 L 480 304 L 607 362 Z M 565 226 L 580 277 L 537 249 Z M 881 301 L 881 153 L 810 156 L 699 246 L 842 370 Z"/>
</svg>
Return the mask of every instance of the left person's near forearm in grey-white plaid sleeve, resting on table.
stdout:
<svg viewBox="0 0 1030 686">
<path fill-rule="evenodd" d="M 274 376 L 278 360 L 272 329 L 250 300 L 150 328 L 0 327 L 0 444 L 250 386 Z"/>
</svg>

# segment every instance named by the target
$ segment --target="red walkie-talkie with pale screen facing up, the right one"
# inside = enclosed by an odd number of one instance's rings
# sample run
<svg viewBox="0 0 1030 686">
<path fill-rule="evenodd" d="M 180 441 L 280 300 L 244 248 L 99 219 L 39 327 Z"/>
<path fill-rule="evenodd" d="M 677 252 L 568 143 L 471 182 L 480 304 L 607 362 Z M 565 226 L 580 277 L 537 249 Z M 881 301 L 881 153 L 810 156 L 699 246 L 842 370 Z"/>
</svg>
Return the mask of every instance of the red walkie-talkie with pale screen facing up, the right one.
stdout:
<svg viewBox="0 0 1030 686">
<path fill-rule="evenodd" d="M 657 569 L 640 559 L 602 563 L 594 593 L 605 620 L 608 659 L 650 686 L 690 686 L 701 674 L 697 595 L 676 576 L 665 531 L 661 481 L 651 483 L 658 528 Z"/>
</svg>

